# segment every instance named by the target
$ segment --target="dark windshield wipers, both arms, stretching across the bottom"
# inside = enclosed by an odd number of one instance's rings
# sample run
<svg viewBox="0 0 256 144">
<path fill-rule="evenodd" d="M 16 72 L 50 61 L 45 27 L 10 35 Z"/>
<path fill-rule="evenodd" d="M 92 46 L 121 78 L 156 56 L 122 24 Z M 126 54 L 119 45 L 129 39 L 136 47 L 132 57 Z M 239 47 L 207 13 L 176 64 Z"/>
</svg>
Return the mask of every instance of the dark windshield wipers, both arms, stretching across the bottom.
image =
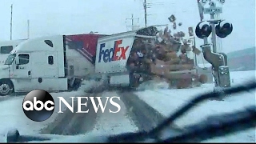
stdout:
<svg viewBox="0 0 256 144">
<path fill-rule="evenodd" d="M 215 91 L 206 94 L 201 94 L 197 98 L 192 99 L 185 106 L 171 114 L 160 125 L 150 130 L 150 132 L 139 131 L 134 133 L 105 135 L 103 137 L 95 137 L 94 141 L 90 142 L 202 142 L 209 138 L 224 136 L 226 134 L 235 133 L 250 128 L 255 128 L 256 125 L 256 107 L 248 106 L 245 110 L 239 110 L 230 114 L 219 114 L 206 118 L 202 122 L 198 122 L 192 126 L 186 126 L 182 133 L 174 133 L 170 130 L 170 124 L 177 118 L 186 114 L 188 110 L 197 106 L 199 102 L 203 102 L 210 98 L 222 98 L 226 94 L 236 94 L 244 91 L 253 90 L 256 87 L 256 82 L 250 82 L 241 86 L 234 86 L 222 91 Z M 100 139 L 98 139 L 100 138 Z M 20 136 L 18 130 L 7 134 L 7 142 L 24 142 L 21 140 L 26 139 L 29 141 L 44 141 L 41 136 Z M 79 138 L 81 142 L 81 138 Z M 45 140 L 49 140 L 46 138 Z M 102 141 L 101 141 L 102 140 Z M 75 138 L 74 138 L 74 142 Z M 78 142 L 78 141 L 77 141 Z M 88 142 L 84 138 L 84 142 Z"/>
</svg>

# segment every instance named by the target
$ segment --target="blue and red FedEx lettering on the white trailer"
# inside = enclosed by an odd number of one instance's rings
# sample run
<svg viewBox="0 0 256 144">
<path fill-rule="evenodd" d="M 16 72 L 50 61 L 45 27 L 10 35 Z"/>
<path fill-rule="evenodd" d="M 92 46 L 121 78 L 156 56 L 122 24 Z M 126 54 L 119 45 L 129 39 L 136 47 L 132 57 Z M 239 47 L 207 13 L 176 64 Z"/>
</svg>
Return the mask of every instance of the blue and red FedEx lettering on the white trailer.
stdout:
<svg viewBox="0 0 256 144">
<path fill-rule="evenodd" d="M 106 43 L 102 43 L 100 45 L 98 62 L 102 62 L 102 59 L 104 62 L 112 62 L 112 61 L 118 61 L 120 59 L 126 59 L 126 51 L 130 46 L 120 47 L 119 45 L 121 44 L 122 44 L 122 39 L 118 41 L 114 41 L 114 48 L 103 50 L 106 46 Z M 120 54 L 118 54 L 118 52 Z"/>
</svg>

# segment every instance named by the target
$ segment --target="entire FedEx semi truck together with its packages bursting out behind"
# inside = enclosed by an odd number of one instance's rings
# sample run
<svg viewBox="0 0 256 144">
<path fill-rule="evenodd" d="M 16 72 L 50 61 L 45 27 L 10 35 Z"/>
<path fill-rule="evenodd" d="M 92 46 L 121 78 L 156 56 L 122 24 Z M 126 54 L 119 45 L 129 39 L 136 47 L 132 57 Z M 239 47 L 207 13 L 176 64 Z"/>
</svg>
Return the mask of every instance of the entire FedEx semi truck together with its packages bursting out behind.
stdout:
<svg viewBox="0 0 256 144">
<path fill-rule="evenodd" d="M 168 26 L 148 26 L 111 35 L 30 38 L 6 56 L 0 71 L 0 95 L 42 88 L 49 92 L 78 90 L 82 81 L 90 78 L 101 79 L 104 86 L 132 88 L 156 79 L 167 81 L 171 88 L 212 82 L 211 70 L 197 66 L 195 56 L 201 51 L 195 47 L 194 37 L 185 36 L 181 31 L 171 34 Z M 209 55 L 211 51 L 202 53 Z M 209 58 L 208 62 L 215 62 Z M 42 68 L 44 73 L 38 71 Z"/>
</svg>

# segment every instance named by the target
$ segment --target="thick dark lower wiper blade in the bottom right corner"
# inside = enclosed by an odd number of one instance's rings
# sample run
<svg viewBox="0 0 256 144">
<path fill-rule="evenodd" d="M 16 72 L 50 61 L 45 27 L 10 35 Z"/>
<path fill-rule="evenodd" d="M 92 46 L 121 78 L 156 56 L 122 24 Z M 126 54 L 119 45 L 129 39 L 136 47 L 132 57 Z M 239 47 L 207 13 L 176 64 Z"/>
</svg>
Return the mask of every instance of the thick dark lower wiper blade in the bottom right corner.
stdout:
<svg viewBox="0 0 256 144">
<path fill-rule="evenodd" d="M 192 126 L 186 126 L 182 134 L 172 136 L 158 142 L 202 142 L 204 140 L 222 137 L 238 131 L 255 128 L 256 106 L 248 106 L 230 114 L 218 114 L 206 118 L 205 121 Z"/>
</svg>

